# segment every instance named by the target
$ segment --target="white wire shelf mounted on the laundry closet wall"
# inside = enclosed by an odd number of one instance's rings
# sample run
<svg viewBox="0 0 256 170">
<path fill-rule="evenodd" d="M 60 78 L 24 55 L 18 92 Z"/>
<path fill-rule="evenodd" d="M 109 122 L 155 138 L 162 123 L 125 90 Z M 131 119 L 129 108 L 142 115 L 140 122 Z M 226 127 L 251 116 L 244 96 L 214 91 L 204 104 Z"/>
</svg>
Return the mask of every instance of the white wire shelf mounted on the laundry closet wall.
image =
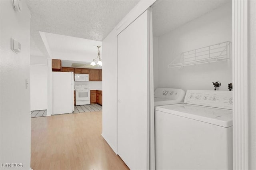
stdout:
<svg viewBox="0 0 256 170">
<path fill-rule="evenodd" d="M 223 42 L 183 52 L 169 64 L 169 68 L 226 61 L 230 59 L 230 45 L 231 42 Z"/>
</svg>

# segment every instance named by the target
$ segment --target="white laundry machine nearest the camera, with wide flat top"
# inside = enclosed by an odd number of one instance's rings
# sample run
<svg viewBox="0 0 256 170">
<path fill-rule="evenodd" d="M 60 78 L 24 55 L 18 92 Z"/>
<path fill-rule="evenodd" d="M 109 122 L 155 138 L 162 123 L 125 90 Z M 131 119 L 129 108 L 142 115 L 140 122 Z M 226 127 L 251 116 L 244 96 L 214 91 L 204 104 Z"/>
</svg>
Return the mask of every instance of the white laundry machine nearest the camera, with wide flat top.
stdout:
<svg viewBox="0 0 256 170">
<path fill-rule="evenodd" d="M 155 107 L 155 147 L 157 170 L 232 170 L 232 91 Z"/>
</svg>

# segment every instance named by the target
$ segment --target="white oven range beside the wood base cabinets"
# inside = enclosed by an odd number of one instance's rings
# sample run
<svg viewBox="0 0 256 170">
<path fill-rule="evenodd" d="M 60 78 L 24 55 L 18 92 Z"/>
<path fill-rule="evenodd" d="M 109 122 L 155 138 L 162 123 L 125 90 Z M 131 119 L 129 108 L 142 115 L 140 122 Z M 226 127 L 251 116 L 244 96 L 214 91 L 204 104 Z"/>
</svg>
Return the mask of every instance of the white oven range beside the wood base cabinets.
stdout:
<svg viewBox="0 0 256 170">
<path fill-rule="evenodd" d="M 90 89 L 86 85 L 75 85 L 76 89 L 76 106 L 90 105 Z"/>
</svg>

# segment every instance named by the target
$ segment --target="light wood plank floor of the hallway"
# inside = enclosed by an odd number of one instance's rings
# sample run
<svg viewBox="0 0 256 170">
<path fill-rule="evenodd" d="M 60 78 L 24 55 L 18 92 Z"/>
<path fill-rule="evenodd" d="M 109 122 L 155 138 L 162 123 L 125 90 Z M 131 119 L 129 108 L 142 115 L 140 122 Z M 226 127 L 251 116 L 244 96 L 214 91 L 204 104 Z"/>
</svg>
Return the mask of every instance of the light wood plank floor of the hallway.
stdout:
<svg viewBox="0 0 256 170">
<path fill-rule="evenodd" d="M 31 119 L 33 170 L 128 170 L 102 133 L 102 112 Z"/>
</svg>

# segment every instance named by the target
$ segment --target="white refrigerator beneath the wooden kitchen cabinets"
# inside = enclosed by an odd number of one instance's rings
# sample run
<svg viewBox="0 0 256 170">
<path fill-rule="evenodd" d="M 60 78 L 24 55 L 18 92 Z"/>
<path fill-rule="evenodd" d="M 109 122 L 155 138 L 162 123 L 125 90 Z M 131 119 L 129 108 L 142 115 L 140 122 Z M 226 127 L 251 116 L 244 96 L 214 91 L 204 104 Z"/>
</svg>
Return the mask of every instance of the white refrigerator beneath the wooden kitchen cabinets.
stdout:
<svg viewBox="0 0 256 170">
<path fill-rule="evenodd" d="M 52 72 L 52 115 L 74 111 L 74 73 Z"/>
</svg>

